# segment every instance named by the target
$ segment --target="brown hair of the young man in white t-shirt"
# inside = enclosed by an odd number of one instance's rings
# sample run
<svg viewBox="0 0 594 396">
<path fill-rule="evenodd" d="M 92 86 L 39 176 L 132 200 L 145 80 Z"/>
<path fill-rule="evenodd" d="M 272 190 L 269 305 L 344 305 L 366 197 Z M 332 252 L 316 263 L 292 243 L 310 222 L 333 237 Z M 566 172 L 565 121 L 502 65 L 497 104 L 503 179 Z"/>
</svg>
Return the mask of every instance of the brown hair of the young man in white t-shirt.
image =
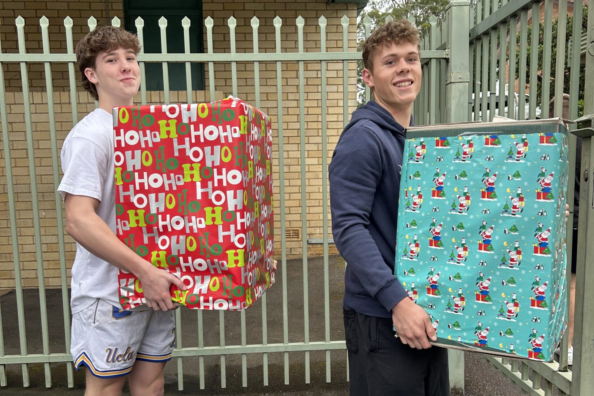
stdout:
<svg viewBox="0 0 594 396">
<path fill-rule="evenodd" d="M 95 68 L 95 61 L 100 52 L 118 48 L 131 49 L 138 55 L 140 52 L 138 37 L 122 28 L 105 25 L 87 33 L 76 46 L 76 61 L 81 74 L 81 83 L 95 100 L 99 100 L 97 88 L 89 81 L 84 71 L 86 68 Z"/>
</svg>

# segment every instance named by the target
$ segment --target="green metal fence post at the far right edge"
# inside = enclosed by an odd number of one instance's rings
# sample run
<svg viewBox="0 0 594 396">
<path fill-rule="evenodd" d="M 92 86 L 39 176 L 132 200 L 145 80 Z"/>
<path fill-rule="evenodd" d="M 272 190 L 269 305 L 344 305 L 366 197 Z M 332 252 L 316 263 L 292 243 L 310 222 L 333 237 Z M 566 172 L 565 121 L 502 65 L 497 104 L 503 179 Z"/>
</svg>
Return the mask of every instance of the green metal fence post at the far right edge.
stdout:
<svg viewBox="0 0 594 396">
<path fill-rule="evenodd" d="M 588 8 L 588 26 L 586 40 L 586 87 L 594 84 L 594 15 L 592 2 Z M 577 239 L 577 271 L 576 271 L 576 316 L 574 321 L 574 356 L 573 381 L 571 395 L 591 394 L 594 389 L 594 317 L 590 307 L 594 303 L 592 287 L 594 287 L 594 268 L 589 260 L 594 256 L 592 237 L 588 229 L 594 229 L 594 178 L 589 175 L 594 169 L 594 93 L 590 89 L 584 91 L 584 121 L 581 129 L 573 131 L 583 138 L 582 141 L 582 175 L 580 176 L 580 217 Z M 590 389 L 590 390 L 587 390 Z"/>
</svg>

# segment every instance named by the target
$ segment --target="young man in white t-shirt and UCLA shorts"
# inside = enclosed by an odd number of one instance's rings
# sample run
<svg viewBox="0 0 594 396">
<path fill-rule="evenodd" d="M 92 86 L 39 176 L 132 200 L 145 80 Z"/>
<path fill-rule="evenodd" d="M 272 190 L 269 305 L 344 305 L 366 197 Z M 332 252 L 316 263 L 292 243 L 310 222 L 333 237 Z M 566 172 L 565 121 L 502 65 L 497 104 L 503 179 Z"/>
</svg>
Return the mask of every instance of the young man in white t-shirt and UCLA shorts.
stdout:
<svg viewBox="0 0 594 396">
<path fill-rule="evenodd" d="M 126 376 L 132 395 L 163 395 L 163 368 L 175 347 L 169 287 L 187 289 L 115 235 L 112 107 L 133 104 L 140 86 L 139 51 L 134 34 L 113 26 L 91 31 L 76 49 L 83 87 L 99 107 L 64 141 L 58 191 L 65 202 L 66 231 L 77 241 L 71 353 L 77 369 L 87 367 L 86 396 L 121 395 Z M 118 268 L 140 279 L 147 307 L 119 309 Z"/>
</svg>

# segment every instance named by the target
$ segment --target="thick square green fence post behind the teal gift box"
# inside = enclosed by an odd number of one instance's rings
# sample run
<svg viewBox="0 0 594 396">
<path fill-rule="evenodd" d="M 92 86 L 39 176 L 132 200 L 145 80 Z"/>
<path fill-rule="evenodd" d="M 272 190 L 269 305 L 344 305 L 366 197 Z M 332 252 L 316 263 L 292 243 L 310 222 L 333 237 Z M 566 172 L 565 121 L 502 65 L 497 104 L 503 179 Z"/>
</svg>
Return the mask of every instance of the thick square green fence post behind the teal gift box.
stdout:
<svg viewBox="0 0 594 396">
<path fill-rule="evenodd" d="M 447 18 L 447 60 L 445 80 L 445 122 L 462 122 L 468 119 L 469 72 L 469 22 L 470 1 L 453 0 L 445 9 Z M 450 388 L 453 394 L 464 393 L 464 353 L 450 349 Z"/>
</svg>

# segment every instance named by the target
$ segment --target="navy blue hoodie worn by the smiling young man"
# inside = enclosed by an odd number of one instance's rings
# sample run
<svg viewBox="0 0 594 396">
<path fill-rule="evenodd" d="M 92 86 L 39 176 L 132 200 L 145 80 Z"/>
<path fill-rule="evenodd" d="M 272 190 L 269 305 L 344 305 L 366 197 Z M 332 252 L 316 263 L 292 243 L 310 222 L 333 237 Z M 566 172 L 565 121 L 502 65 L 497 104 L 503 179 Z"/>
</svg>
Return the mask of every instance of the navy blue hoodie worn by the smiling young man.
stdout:
<svg viewBox="0 0 594 396">
<path fill-rule="evenodd" d="M 407 296 L 393 275 L 404 141 L 405 128 L 370 101 L 353 112 L 328 167 L 332 233 L 347 262 L 343 304 L 365 315 L 391 318 Z"/>
</svg>

